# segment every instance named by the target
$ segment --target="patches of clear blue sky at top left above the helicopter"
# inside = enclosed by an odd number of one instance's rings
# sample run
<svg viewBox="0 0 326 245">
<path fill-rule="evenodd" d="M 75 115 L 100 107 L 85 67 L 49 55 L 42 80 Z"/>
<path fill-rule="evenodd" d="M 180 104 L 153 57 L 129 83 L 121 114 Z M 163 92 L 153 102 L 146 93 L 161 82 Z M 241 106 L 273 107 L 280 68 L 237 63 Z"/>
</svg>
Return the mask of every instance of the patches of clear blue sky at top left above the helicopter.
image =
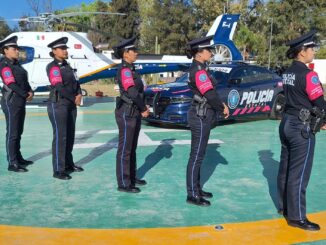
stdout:
<svg viewBox="0 0 326 245">
<path fill-rule="evenodd" d="M 67 7 L 75 7 L 81 3 L 89 4 L 94 0 L 52 0 L 53 11 Z M 39 0 L 42 3 L 42 0 Z M 106 1 L 104 1 L 106 2 Z M 34 16 L 34 12 L 27 0 L 1 0 L 0 17 L 4 19 L 20 18 L 23 15 Z M 10 27 L 17 26 L 17 22 L 7 22 Z"/>
</svg>

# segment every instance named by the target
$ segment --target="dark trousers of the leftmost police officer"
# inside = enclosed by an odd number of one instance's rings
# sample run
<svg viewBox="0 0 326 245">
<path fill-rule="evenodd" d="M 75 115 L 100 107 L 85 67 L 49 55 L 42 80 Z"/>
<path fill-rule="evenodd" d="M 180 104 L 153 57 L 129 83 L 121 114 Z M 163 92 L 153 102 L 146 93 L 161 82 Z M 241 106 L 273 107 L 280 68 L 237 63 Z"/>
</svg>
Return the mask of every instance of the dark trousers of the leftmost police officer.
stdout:
<svg viewBox="0 0 326 245">
<path fill-rule="evenodd" d="M 15 105 L 1 99 L 1 108 L 6 117 L 6 150 L 9 165 L 18 164 L 23 157 L 20 152 L 20 140 L 24 131 L 26 109 L 24 105 Z"/>
</svg>

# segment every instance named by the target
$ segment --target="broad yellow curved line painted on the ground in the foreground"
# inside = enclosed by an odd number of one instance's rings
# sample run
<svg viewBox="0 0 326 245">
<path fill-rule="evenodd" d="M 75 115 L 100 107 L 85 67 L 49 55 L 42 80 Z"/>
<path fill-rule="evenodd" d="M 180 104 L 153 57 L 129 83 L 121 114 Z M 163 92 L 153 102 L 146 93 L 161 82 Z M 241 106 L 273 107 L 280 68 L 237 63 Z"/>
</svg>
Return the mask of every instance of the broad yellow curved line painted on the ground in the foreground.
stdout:
<svg viewBox="0 0 326 245">
<path fill-rule="evenodd" d="M 320 231 L 290 227 L 284 219 L 223 224 L 146 229 L 63 229 L 0 225 L 1 244 L 232 244 L 281 245 L 326 239 L 326 212 L 309 215 Z"/>
</svg>

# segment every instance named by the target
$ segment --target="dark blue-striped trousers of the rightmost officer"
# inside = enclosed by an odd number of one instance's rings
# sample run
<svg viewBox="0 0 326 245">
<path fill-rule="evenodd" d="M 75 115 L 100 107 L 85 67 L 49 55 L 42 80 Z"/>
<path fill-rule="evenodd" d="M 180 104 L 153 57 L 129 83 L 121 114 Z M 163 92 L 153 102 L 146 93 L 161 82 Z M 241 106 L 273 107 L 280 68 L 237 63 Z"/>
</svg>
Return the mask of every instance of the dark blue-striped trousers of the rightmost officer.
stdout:
<svg viewBox="0 0 326 245">
<path fill-rule="evenodd" d="M 306 218 L 306 189 L 315 149 L 315 135 L 297 116 L 284 114 L 280 124 L 281 162 L 277 177 L 279 208 L 290 220 Z"/>
</svg>

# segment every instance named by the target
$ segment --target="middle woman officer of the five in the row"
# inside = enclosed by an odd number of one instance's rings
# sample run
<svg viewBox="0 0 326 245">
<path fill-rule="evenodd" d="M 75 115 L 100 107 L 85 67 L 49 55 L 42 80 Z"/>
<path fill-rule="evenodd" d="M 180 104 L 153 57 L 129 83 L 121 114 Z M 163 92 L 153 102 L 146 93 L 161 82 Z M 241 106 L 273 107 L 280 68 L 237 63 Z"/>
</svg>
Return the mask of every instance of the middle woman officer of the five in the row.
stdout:
<svg viewBox="0 0 326 245">
<path fill-rule="evenodd" d="M 117 97 L 115 118 L 119 128 L 116 175 L 118 191 L 138 193 L 137 185 L 146 181 L 136 178 L 136 148 L 141 126 L 141 117 L 147 117 L 149 110 L 144 103 L 144 85 L 133 62 L 137 59 L 136 38 L 123 40 L 114 47 L 114 54 L 122 59 L 117 70 L 116 82 L 120 96 Z"/>
</svg>

